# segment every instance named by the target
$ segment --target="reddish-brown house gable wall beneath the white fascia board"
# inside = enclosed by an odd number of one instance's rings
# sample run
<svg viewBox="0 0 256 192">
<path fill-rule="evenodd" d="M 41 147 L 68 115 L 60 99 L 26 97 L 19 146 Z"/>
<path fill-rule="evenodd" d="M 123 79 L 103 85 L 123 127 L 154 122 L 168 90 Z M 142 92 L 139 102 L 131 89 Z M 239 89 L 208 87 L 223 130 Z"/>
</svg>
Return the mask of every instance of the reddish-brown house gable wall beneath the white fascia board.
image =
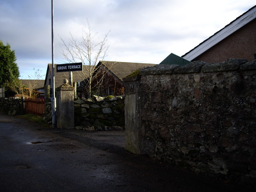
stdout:
<svg viewBox="0 0 256 192">
<path fill-rule="evenodd" d="M 254 60 L 256 54 L 256 19 L 246 24 L 192 61 L 223 62 L 228 58 Z"/>
</svg>

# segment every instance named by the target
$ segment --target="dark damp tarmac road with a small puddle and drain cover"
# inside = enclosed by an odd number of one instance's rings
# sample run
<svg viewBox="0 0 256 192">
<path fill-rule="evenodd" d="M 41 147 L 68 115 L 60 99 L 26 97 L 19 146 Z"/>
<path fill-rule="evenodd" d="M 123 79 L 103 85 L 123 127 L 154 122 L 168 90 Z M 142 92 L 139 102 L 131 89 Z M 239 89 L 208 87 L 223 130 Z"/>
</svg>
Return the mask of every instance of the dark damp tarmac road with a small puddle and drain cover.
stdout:
<svg viewBox="0 0 256 192">
<path fill-rule="evenodd" d="M 0 114 L 1 192 L 234 192 L 238 186 L 138 156 L 123 131 L 47 129 Z"/>
</svg>

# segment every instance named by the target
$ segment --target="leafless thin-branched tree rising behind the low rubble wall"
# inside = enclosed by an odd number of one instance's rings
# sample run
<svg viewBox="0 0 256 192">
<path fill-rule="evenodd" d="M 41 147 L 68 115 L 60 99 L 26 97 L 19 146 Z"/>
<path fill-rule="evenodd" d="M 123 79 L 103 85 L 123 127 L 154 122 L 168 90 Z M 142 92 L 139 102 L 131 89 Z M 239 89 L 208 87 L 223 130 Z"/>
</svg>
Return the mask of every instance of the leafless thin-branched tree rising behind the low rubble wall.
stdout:
<svg viewBox="0 0 256 192">
<path fill-rule="evenodd" d="M 60 37 L 62 41 L 60 46 L 65 61 L 69 63 L 83 63 L 83 76 L 80 76 L 83 79 L 82 85 L 90 98 L 92 90 L 99 90 L 99 87 L 102 86 L 104 75 L 96 75 L 97 70 L 101 68 L 101 66 L 97 66 L 97 64 L 98 61 L 104 60 L 107 56 L 109 47 L 107 44 L 107 36 L 110 31 L 105 34 L 102 40 L 98 39 L 98 42 L 95 42 L 94 40 L 98 33 L 92 34 L 88 20 L 87 24 L 87 30 L 82 29 L 82 37 L 80 40 L 76 40 L 70 33 L 71 38 L 68 44 Z M 106 73 L 106 68 L 102 71 L 102 74 L 104 73 Z"/>
</svg>

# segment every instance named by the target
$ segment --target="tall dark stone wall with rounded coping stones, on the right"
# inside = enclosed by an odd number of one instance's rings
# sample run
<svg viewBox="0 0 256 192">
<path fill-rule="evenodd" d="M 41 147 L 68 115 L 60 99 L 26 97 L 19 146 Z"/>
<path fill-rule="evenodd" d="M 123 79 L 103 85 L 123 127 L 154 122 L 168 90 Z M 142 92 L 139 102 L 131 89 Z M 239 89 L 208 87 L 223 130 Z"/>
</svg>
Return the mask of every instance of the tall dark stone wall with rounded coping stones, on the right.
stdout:
<svg viewBox="0 0 256 192">
<path fill-rule="evenodd" d="M 256 60 L 156 65 L 140 71 L 136 92 L 124 82 L 140 106 L 140 127 L 126 140 L 132 152 L 255 184 Z M 126 129 L 138 122 L 126 116 Z"/>
</svg>

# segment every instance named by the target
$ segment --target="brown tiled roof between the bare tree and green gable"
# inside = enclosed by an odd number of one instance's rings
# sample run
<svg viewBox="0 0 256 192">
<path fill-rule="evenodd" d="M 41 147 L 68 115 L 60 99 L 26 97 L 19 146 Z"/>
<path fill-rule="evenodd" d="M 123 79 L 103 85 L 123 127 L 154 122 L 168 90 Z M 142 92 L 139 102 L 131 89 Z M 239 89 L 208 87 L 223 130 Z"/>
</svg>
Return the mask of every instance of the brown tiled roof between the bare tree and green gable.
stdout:
<svg viewBox="0 0 256 192">
<path fill-rule="evenodd" d="M 130 62 L 114 62 L 114 61 L 100 61 L 104 64 L 112 73 L 114 73 L 120 80 L 131 74 L 132 72 L 145 68 L 148 66 L 154 66 L 156 64 L 149 63 L 130 63 Z"/>
</svg>

